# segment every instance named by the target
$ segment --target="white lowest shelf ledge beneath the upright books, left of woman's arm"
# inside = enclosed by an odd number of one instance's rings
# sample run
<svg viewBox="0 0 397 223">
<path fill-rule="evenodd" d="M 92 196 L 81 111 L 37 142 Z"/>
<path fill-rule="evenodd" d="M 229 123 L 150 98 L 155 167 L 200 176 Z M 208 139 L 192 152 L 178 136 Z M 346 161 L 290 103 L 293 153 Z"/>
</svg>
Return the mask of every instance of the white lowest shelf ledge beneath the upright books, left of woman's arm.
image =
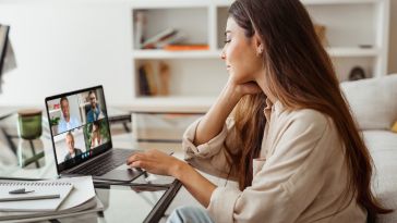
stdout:
<svg viewBox="0 0 397 223">
<path fill-rule="evenodd" d="M 137 97 L 123 107 L 140 112 L 206 112 L 216 97 Z"/>
</svg>

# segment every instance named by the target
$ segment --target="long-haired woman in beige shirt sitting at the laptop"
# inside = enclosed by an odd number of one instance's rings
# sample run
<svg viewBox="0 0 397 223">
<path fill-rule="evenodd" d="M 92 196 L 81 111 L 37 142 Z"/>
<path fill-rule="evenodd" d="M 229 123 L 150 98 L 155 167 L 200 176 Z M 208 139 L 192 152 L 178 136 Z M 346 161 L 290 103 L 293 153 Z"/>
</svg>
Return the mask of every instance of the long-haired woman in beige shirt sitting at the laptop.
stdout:
<svg viewBox="0 0 397 223">
<path fill-rule="evenodd" d="M 365 222 L 389 212 L 373 197 L 371 157 L 300 1 L 237 0 L 229 14 L 228 83 L 183 148 L 190 164 L 239 188 L 157 150 L 130 157 L 207 208 L 177 209 L 169 221 Z"/>
</svg>

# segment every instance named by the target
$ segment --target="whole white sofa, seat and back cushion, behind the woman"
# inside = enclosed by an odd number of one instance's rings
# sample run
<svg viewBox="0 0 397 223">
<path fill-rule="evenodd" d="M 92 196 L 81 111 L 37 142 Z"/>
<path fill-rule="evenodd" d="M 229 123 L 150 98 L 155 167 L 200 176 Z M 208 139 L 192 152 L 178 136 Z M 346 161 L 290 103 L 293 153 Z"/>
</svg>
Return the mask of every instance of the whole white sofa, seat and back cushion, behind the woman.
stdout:
<svg viewBox="0 0 397 223">
<path fill-rule="evenodd" d="M 341 84 L 351 111 L 374 161 L 375 196 L 396 211 L 377 222 L 397 222 L 397 74 Z"/>
</svg>

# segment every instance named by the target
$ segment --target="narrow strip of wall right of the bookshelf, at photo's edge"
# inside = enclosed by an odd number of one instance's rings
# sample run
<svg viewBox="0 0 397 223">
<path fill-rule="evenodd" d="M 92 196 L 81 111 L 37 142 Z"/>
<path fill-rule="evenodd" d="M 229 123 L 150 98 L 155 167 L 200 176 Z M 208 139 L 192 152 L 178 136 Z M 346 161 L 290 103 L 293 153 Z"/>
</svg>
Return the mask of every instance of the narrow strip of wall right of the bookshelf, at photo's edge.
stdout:
<svg viewBox="0 0 397 223">
<path fill-rule="evenodd" d="M 388 73 L 397 73 L 397 0 L 390 0 Z"/>
</svg>

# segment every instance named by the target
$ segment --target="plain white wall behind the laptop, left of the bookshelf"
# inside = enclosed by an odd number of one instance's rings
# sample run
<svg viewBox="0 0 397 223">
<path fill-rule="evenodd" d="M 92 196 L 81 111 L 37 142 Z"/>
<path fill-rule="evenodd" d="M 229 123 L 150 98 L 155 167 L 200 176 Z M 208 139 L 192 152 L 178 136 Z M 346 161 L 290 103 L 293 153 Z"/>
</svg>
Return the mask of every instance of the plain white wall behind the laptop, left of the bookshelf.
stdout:
<svg viewBox="0 0 397 223">
<path fill-rule="evenodd" d="M 46 96 L 104 85 L 108 104 L 132 100 L 131 28 L 120 0 L 0 0 L 17 69 L 0 106 L 44 107 Z"/>
</svg>

